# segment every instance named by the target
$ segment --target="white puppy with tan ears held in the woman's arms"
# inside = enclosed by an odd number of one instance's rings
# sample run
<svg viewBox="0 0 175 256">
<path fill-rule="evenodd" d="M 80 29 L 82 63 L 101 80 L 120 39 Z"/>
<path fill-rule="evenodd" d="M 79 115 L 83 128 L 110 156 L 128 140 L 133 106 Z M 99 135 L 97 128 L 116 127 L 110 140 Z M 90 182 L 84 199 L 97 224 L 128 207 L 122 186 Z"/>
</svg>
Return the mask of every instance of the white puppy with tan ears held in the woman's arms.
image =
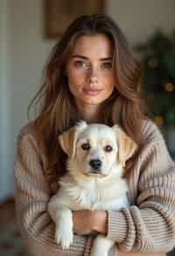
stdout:
<svg viewBox="0 0 175 256">
<path fill-rule="evenodd" d="M 59 181 L 48 211 L 55 240 L 66 249 L 73 243 L 72 210 L 119 210 L 129 205 L 123 167 L 137 149 L 117 125 L 81 122 L 59 136 L 68 155 L 67 173 Z M 114 241 L 98 235 L 91 256 L 107 256 Z"/>
</svg>

